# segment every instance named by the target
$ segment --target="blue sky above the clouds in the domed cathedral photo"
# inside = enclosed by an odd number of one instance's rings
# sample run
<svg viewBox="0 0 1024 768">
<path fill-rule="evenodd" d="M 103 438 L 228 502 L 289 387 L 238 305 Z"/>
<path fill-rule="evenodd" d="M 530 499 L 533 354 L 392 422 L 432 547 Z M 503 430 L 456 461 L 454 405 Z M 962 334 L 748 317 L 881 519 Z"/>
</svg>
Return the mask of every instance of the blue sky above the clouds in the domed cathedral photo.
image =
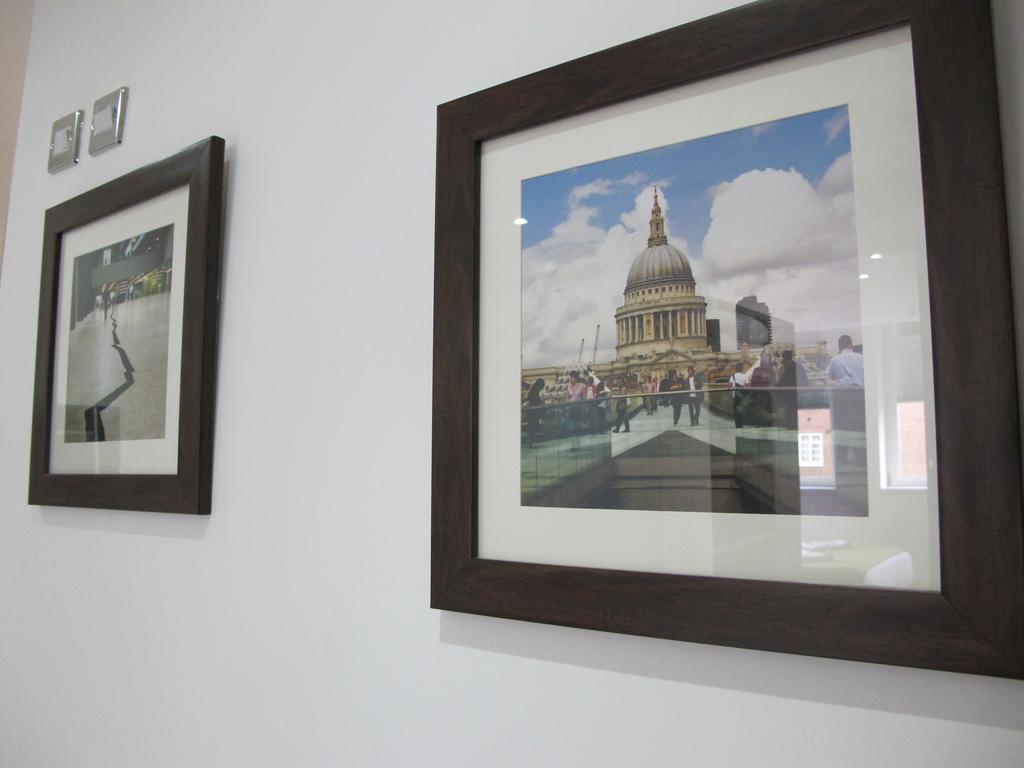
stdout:
<svg viewBox="0 0 1024 768">
<path fill-rule="evenodd" d="M 711 223 L 709 189 L 763 168 L 792 168 L 817 185 L 837 158 L 849 152 L 847 108 L 842 105 L 525 179 L 522 247 L 551 234 L 569 210 L 573 188 L 642 174 L 644 181 L 666 182 L 664 195 L 672 201 L 669 231 L 686 240 L 690 258 L 700 258 Z M 635 187 L 620 184 L 607 195 L 589 197 L 587 205 L 597 209 L 591 223 L 605 229 L 615 224 L 632 209 L 635 193 Z"/>
</svg>

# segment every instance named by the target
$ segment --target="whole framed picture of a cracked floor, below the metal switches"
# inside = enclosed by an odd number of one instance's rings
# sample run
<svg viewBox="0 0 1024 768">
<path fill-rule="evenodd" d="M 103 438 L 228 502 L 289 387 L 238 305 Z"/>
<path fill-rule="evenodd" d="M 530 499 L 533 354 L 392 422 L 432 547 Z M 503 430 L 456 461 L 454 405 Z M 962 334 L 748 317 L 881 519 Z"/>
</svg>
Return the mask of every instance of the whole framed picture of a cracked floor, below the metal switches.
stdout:
<svg viewBox="0 0 1024 768">
<path fill-rule="evenodd" d="M 29 503 L 209 514 L 224 141 L 46 212 Z"/>
</svg>

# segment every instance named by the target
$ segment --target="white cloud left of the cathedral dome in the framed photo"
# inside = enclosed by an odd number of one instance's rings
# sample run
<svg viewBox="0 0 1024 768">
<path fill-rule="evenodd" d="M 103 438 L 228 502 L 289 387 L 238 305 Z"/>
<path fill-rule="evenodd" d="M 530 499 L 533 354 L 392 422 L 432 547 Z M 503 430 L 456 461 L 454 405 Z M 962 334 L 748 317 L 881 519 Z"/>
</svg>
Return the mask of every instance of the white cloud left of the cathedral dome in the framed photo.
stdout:
<svg viewBox="0 0 1024 768">
<path fill-rule="evenodd" d="M 633 259 L 647 247 L 653 198 L 653 185 L 644 187 L 633 210 L 606 230 L 591 223 L 594 209 L 570 209 L 551 237 L 523 252 L 524 367 L 569 365 L 579 355 L 581 339 L 586 340 L 584 359 L 589 361 L 598 324 L 597 359 L 614 357 L 614 310 L 623 303 Z M 669 202 L 664 197 L 660 206 L 667 213 Z M 671 233 L 670 241 L 686 252 L 685 241 Z"/>
</svg>

